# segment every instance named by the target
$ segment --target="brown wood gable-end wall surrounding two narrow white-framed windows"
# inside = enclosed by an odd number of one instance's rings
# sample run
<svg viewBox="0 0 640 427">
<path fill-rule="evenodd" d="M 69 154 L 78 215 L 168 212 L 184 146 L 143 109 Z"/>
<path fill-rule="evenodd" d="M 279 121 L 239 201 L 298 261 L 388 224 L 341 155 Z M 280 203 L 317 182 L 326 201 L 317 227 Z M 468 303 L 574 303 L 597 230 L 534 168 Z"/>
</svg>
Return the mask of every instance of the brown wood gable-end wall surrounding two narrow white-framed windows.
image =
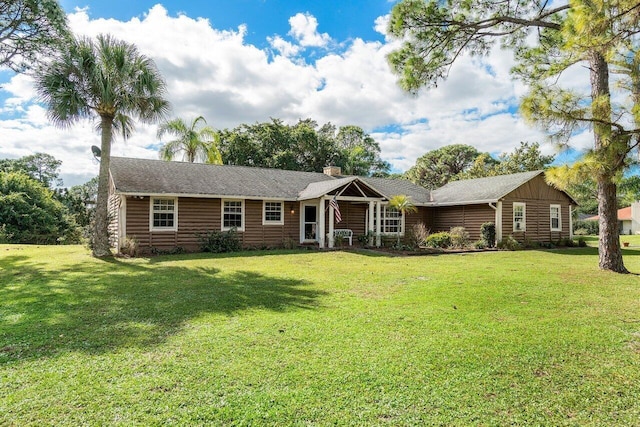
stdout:
<svg viewBox="0 0 640 427">
<path fill-rule="evenodd" d="M 525 203 L 526 230 L 513 231 L 513 203 Z M 516 240 L 555 242 L 570 236 L 569 205 L 571 199 L 537 176 L 509 193 L 502 202 L 502 236 Z M 551 205 L 560 205 L 562 231 L 551 231 Z"/>
</svg>

